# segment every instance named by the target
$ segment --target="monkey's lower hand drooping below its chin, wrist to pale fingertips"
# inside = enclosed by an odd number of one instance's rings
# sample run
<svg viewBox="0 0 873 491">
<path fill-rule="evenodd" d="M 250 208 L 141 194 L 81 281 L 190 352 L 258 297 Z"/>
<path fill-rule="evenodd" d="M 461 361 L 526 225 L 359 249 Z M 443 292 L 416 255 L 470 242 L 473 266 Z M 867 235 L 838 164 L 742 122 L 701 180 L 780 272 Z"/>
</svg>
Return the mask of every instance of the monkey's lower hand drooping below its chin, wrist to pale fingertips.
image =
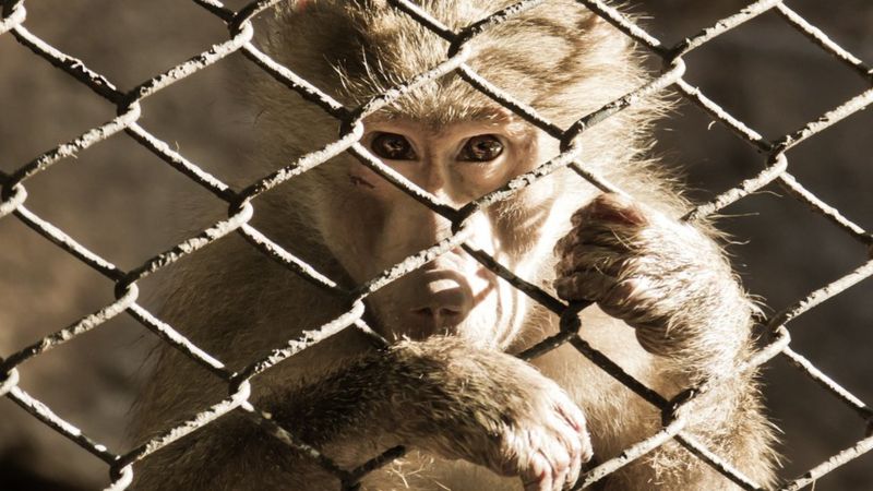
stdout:
<svg viewBox="0 0 873 491">
<path fill-rule="evenodd" d="M 575 483 L 591 445 L 585 417 L 552 380 L 515 357 L 451 337 L 402 345 L 414 352 L 415 361 L 400 366 L 416 387 L 415 399 L 403 404 L 404 440 L 518 476 L 525 491 Z"/>
</svg>

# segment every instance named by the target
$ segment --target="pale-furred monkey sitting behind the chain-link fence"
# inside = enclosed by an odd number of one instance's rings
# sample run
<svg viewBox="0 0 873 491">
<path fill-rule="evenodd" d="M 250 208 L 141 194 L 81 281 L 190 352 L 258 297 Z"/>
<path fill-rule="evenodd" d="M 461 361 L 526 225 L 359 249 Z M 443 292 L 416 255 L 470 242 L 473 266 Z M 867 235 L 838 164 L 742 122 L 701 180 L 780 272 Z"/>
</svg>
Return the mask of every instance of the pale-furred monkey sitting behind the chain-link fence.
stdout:
<svg viewBox="0 0 873 491">
<path fill-rule="evenodd" d="M 422 0 L 458 31 L 510 0 Z M 279 4 L 259 39 L 273 59 L 347 108 L 445 60 L 449 44 L 383 0 Z M 633 44 L 579 3 L 546 2 L 469 41 L 467 63 L 567 128 L 643 85 Z M 336 140 L 338 122 L 275 83 L 251 80 L 259 144 L 246 169 L 266 175 Z M 683 221 L 680 181 L 646 155 L 669 100 L 653 96 L 588 128 L 579 165 L 470 217 L 469 248 L 565 301 L 578 336 L 665 397 L 699 394 L 685 431 L 761 486 L 774 482 L 775 431 L 755 373 L 755 304 L 715 228 Z M 360 143 L 398 175 L 458 208 L 560 153 L 559 142 L 457 73 L 367 116 Z M 254 202 L 252 224 L 318 271 L 354 288 L 452 235 L 451 223 L 342 154 Z M 241 370 L 346 312 L 335 298 L 240 237 L 186 258 L 159 316 Z M 571 489 L 593 457 L 619 455 L 661 428 L 660 410 L 563 345 L 515 355 L 559 332 L 558 319 L 454 247 L 366 298 L 366 321 L 390 345 L 347 328 L 252 380 L 250 399 L 343 468 L 387 448 L 408 453 L 370 472 L 368 490 Z M 227 396 L 226 383 L 158 346 L 134 408 L 137 442 Z M 136 490 L 327 490 L 339 481 L 236 411 L 134 465 Z M 610 491 L 733 490 L 668 441 L 598 482 Z"/>
</svg>

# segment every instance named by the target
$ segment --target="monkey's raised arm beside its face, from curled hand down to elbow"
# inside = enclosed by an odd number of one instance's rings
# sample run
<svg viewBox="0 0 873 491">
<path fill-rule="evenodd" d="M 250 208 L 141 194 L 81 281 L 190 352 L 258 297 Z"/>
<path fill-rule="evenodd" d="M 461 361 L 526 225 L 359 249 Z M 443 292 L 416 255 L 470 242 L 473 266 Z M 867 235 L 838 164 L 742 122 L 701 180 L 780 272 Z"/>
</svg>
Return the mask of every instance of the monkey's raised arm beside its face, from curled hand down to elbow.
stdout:
<svg viewBox="0 0 873 491">
<path fill-rule="evenodd" d="M 595 197 L 572 221 L 573 229 L 555 248 L 558 295 L 596 301 L 633 327 L 639 345 L 656 355 L 651 383 L 666 397 L 714 382 L 680 409 L 685 431 L 767 482 L 773 431 L 760 411 L 754 373 L 738 371 L 752 352 L 755 306 L 719 246 L 693 224 L 615 194 Z M 610 428 L 602 420 L 593 422 L 595 432 Z M 646 465 L 667 475 L 686 459 L 686 451 L 669 444 L 650 458 L 631 471 L 641 477 L 626 489 L 649 489 Z M 674 481 L 667 479 L 658 489 L 736 489 L 699 462 L 684 466 Z"/>
</svg>

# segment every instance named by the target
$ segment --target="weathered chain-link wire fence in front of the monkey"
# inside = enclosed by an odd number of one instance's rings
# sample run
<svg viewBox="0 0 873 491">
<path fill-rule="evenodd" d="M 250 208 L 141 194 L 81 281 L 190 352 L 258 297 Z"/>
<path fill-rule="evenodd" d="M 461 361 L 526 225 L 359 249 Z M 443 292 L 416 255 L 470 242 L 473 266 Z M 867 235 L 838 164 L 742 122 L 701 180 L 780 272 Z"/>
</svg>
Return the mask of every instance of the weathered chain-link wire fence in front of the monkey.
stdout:
<svg viewBox="0 0 873 491">
<path fill-rule="evenodd" d="M 2 354 L 3 361 L 0 363 L 0 373 L 4 375 L 2 383 L 0 383 L 0 394 L 13 400 L 34 418 L 75 442 L 85 452 L 89 452 L 104 460 L 110 469 L 112 479 L 110 489 L 124 489 L 131 482 L 137 460 L 146 458 L 151 453 L 178 439 L 186 438 L 186 435 L 202 429 L 230 411 L 244 412 L 255 423 L 264 428 L 265 431 L 271 432 L 288 445 L 309 453 L 312 458 L 316 459 L 325 469 L 339 478 L 345 488 L 355 488 L 357 482 L 367 472 L 383 465 L 388 459 L 400 455 L 404 452 L 403 448 L 393 448 L 381 456 L 375 456 L 372 460 L 356 469 L 343 469 L 327 457 L 321 455 L 318 450 L 299 442 L 292 434 L 264 417 L 259 408 L 254 407 L 248 400 L 251 384 L 258 383 L 255 375 L 271 370 L 276 363 L 297 355 L 303 349 L 308 349 L 343 330 L 360 330 L 373 337 L 378 337 L 362 319 L 364 310 L 362 300 L 408 271 L 422 266 L 428 260 L 432 259 L 434 254 L 441 254 L 455 247 L 464 248 L 467 253 L 475 256 L 486 267 L 534 300 L 540 302 L 555 315 L 560 316 L 562 326 L 561 333 L 553 338 L 545 339 L 534 348 L 522 354 L 523 358 L 534 358 L 560 345 L 571 344 L 583 356 L 587 357 L 630 390 L 634 391 L 637 395 L 662 411 L 665 426 L 660 431 L 626 448 L 620 456 L 599 463 L 599 465 L 585 474 L 579 481 L 578 488 L 593 484 L 665 442 L 674 440 L 721 472 L 726 479 L 730 479 L 741 488 L 763 489 L 761 483 L 754 482 L 744 476 L 742 469 L 734 468 L 729 462 L 726 462 L 719 455 L 710 452 L 692 435 L 685 433 L 683 431 L 685 424 L 684 419 L 674 416 L 679 414 L 678 407 L 690 404 L 698 394 L 706 391 L 705 384 L 699 387 L 691 387 L 672 400 L 668 400 L 629 375 L 621 367 L 594 349 L 583 337 L 577 335 L 577 312 L 585 306 L 565 304 L 537 286 L 527 283 L 524 278 L 517 277 L 512 271 L 509 271 L 489 255 L 467 247 L 464 242 L 466 237 L 466 224 L 469 217 L 480 209 L 500 200 L 506 199 L 512 193 L 517 192 L 518 189 L 530 185 L 540 179 L 548 178 L 550 172 L 561 167 L 569 166 L 573 168 L 582 179 L 586 179 L 601 190 L 615 190 L 610 182 L 606 181 L 600 176 L 590 173 L 574 161 L 578 156 L 579 148 L 574 147 L 572 142 L 581 133 L 596 125 L 603 119 L 609 118 L 648 95 L 666 89 L 672 89 L 681 94 L 685 99 L 698 106 L 711 118 L 732 131 L 740 141 L 762 155 L 761 161 L 763 164 L 763 170 L 756 175 L 749 176 L 746 179 L 742 180 L 742 182 L 719 193 L 707 203 L 689 211 L 685 216 L 686 219 L 695 219 L 697 217 L 711 215 L 762 189 L 780 189 L 799 202 L 808 205 L 812 212 L 824 216 L 847 236 L 863 244 L 869 253 L 866 258 L 858 258 L 858 264 L 853 271 L 809 292 L 809 295 L 797 302 L 781 308 L 776 313 L 758 320 L 766 343 L 763 344 L 760 351 L 757 351 L 752 359 L 748 360 L 745 369 L 751 370 L 768 363 L 775 357 L 784 357 L 805 376 L 820 384 L 821 387 L 827 391 L 834 398 L 856 412 L 860 420 L 866 426 L 866 433 L 859 435 L 859 439 L 851 446 L 834 455 L 823 455 L 820 465 L 810 468 L 799 477 L 787 477 L 787 479 L 780 482 L 778 489 L 796 490 L 808 487 L 825 474 L 837 469 L 841 465 L 858 458 L 873 448 L 873 435 L 871 435 L 873 432 L 873 410 L 871 410 L 863 400 L 841 387 L 826 373 L 817 369 L 810 360 L 792 349 L 789 331 L 787 328 L 787 324 L 794 321 L 800 315 L 873 275 L 873 261 L 870 260 L 870 253 L 873 252 L 873 235 L 844 216 L 839 209 L 822 201 L 788 171 L 790 167 L 788 154 L 790 151 L 801 143 L 815 137 L 822 131 L 840 122 L 848 116 L 862 110 L 873 101 L 873 88 L 861 91 L 844 104 L 825 112 L 820 118 L 803 124 L 796 131 L 784 134 L 780 137 L 765 139 L 742 120 L 722 109 L 716 101 L 708 98 L 702 91 L 684 79 L 685 58 L 690 52 L 719 38 L 743 23 L 762 14 L 769 13 L 778 15 L 786 25 L 797 29 L 812 44 L 824 50 L 824 52 L 833 56 L 838 62 L 846 67 L 847 71 L 857 74 L 866 86 L 873 84 L 873 69 L 871 69 L 869 64 L 865 64 L 853 53 L 841 48 L 828 38 L 825 33 L 808 22 L 786 3 L 776 0 L 754 2 L 738 13 L 720 19 L 711 26 L 702 29 L 699 34 L 686 37 L 680 43 L 668 46 L 653 37 L 638 25 L 626 20 L 609 4 L 598 0 L 579 0 L 579 8 L 588 8 L 624 33 L 624 35 L 632 37 L 637 44 L 648 49 L 654 59 L 661 61 L 662 70 L 658 76 L 653 77 L 644 86 L 608 104 L 600 110 L 589 115 L 581 115 L 581 119 L 578 119 L 576 123 L 565 129 L 555 125 L 548 119 L 538 115 L 534 108 L 515 100 L 512 96 L 501 91 L 500 87 L 483 80 L 466 63 L 469 52 L 465 47 L 477 34 L 505 22 L 506 19 L 512 15 L 517 15 L 527 9 L 543 3 L 541 0 L 521 1 L 512 8 L 494 12 L 493 15 L 458 32 L 454 32 L 442 25 L 412 2 L 392 0 L 391 3 L 394 8 L 405 12 L 407 15 L 444 38 L 450 43 L 451 48 L 445 60 L 432 70 L 419 74 L 395 87 L 395 91 L 375 97 L 368 104 L 356 108 L 344 107 L 323 93 L 319 87 L 301 79 L 292 71 L 288 70 L 288 68 L 276 63 L 259 50 L 255 43 L 252 43 L 255 31 L 252 20 L 263 11 L 276 4 L 278 0 L 251 2 L 237 12 L 214 0 L 192 0 L 192 2 L 214 14 L 216 16 L 216 22 L 220 20 L 227 25 L 229 32 L 228 40 L 216 44 L 211 49 L 156 76 L 148 77 L 129 91 L 117 88 L 110 80 L 92 70 L 81 60 L 58 50 L 51 44 L 32 34 L 25 27 L 27 17 L 25 1 L 7 0 L 0 2 L 3 5 L 0 34 L 14 37 L 17 43 L 27 47 L 36 56 L 62 70 L 83 86 L 91 89 L 96 96 L 109 101 L 117 108 L 118 116 L 105 124 L 85 131 L 74 140 L 60 144 L 22 166 L 16 166 L 16 168 L 9 173 L 0 175 L 3 184 L 2 200 L 0 201 L 0 217 L 7 220 L 12 219 L 12 217 L 17 218 L 21 223 L 45 237 L 45 239 L 51 241 L 73 258 L 103 275 L 103 277 L 108 280 L 108 283 L 106 283 L 107 288 L 109 286 L 113 288 L 116 298 L 115 301 L 52 335 L 37 339 L 32 345 L 13 352 Z M 179 81 L 201 72 L 235 52 L 243 55 L 251 63 L 260 67 L 276 81 L 286 85 L 289 91 L 299 93 L 311 104 L 321 107 L 327 115 L 336 118 L 337 124 L 342 128 L 340 136 L 336 142 L 307 154 L 297 161 L 290 163 L 286 167 L 268 176 L 249 182 L 241 191 L 234 191 L 219 178 L 205 170 L 203 166 L 195 164 L 180 152 L 174 149 L 170 142 L 166 141 L 166 139 L 157 137 L 153 132 L 147 131 L 141 124 L 141 117 L 143 113 L 141 103 L 144 99 L 167 89 Z M 36 58 L 34 58 L 34 60 L 36 61 Z M 397 173 L 392 172 L 359 144 L 362 118 L 392 104 L 397 98 L 404 97 L 404 94 L 415 87 L 427 84 L 449 73 L 461 75 L 471 86 L 560 141 L 562 143 L 562 153 L 554 159 L 542 164 L 536 170 L 514 179 L 498 191 L 481 196 L 459 209 L 455 209 L 446 206 L 440 202 L 440 200 L 405 180 Z M 61 160 L 70 159 L 71 157 L 75 158 L 82 151 L 105 142 L 117 133 L 127 134 L 174 169 L 183 173 L 219 200 L 226 202 L 228 205 L 227 217 L 205 228 L 196 236 L 152 256 L 135 267 L 121 270 L 103 256 L 92 252 L 74 237 L 68 235 L 61 228 L 25 206 L 27 201 L 26 183 L 29 179 L 49 171 L 49 169 L 52 169 L 53 166 Z M 312 266 L 283 249 L 278 243 L 251 226 L 249 220 L 252 217 L 254 207 L 258 206 L 256 199 L 260 194 L 280 183 L 292 180 L 296 176 L 314 168 L 343 152 L 355 154 L 364 165 L 380 173 L 393 185 L 402 189 L 422 205 L 428 206 L 435 213 L 451 220 L 453 224 L 452 237 L 428 250 L 420 251 L 418 254 L 411 256 L 410 260 L 405 261 L 402 267 L 386 270 L 385 273 L 360 285 L 354 291 L 340 291 L 343 295 L 349 296 L 355 300 L 354 307 L 347 313 L 325 324 L 307 338 L 300 339 L 299 343 L 294 344 L 295 347 L 292 349 L 277 347 L 276 350 L 271 352 L 267 357 L 251 360 L 247 369 L 238 372 L 231 372 L 226 369 L 220 360 L 215 359 L 208 352 L 205 352 L 188 340 L 184 336 L 175 331 L 172 326 L 162 322 L 137 300 L 137 283 L 180 259 L 190 254 L 195 254 L 200 249 L 214 241 L 222 240 L 222 238 L 231 232 L 240 233 L 252 247 L 274 260 L 277 260 L 290 271 L 303 276 L 314 285 L 325 290 L 338 290 L 339 287 L 334 280 L 323 276 Z M 67 164 L 70 165 L 71 163 Z M 148 442 L 140 442 L 139 446 L 134 448 L 110 448 L 81 432 L 73 424 L 74 421 L 67 421 L 62 417 L 56 415 L 48 405 L 41 403 L 21 388 L 19 380 L 27 376 L 26 370 L 23 369 L 20 371 L 17 369 L 22 363 L 52 348 L 59 347 L 88 331 L 103 326 L 107 321 L 121 313 L 129 314 L 165 343 L 171 344 L 186 352 L 192 360 L 210 370 L 214 376 L 226 382 L 231 395 L 219 404 L 203 408 L 203 411 L 200 414 L 190 415 L 190 420 L 187 422 L 175 428 L 167 428 L 162 435 Z"/>
</svg>

